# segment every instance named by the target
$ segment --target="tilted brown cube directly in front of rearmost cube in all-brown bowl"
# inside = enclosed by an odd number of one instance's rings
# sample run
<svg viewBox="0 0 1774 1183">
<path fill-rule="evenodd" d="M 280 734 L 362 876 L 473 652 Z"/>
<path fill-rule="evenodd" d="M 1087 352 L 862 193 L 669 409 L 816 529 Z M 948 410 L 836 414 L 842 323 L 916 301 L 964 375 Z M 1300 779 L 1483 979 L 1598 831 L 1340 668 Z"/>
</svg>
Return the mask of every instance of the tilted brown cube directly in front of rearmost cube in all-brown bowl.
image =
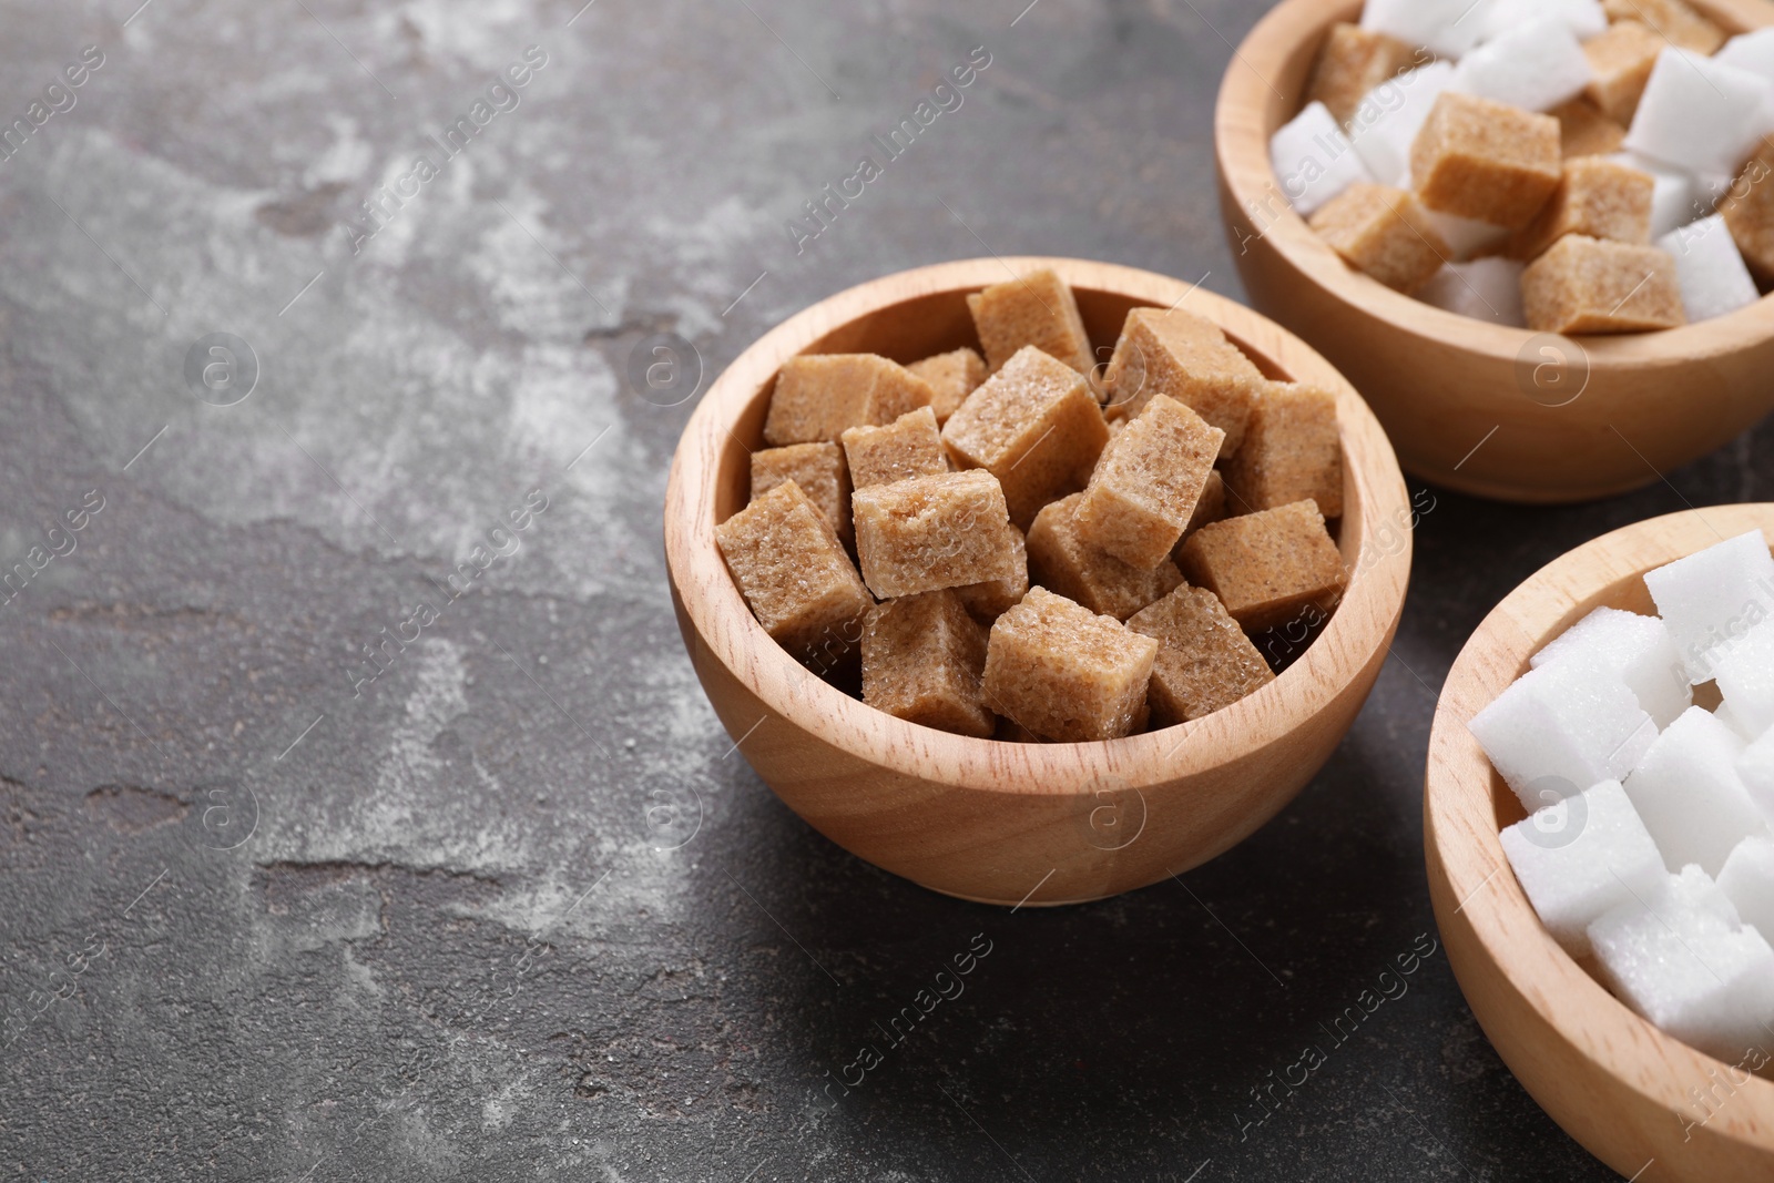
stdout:
<svg viewBox="0 0 1774 1183">
<path fill-rule="evenodd" d="M 1084 376 L 1034 346 L 1017 351 L 942 427 L 956 468 L 985 468 L 1004 486 L 1011 521 L 1082 488 L 1109 442 Z"/>
</svg>

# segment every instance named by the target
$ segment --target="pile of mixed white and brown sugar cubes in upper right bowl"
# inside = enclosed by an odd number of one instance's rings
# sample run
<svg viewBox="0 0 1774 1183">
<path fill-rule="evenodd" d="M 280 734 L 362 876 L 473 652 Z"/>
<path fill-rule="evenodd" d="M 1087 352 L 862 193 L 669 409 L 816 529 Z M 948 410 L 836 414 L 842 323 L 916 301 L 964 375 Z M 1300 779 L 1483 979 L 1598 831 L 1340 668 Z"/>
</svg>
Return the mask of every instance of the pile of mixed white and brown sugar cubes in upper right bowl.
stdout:
<svg viewBox="0 0 1774 1183">
<path fill-rule="evenodd" d="M 1270 140 L 1281 197 L 1437 307 L 1625 333 L 1774 284 L 1774 28 L 1728 39 L 1684 0 L 1368 0 L 1306 98 Z"/>
</svg>

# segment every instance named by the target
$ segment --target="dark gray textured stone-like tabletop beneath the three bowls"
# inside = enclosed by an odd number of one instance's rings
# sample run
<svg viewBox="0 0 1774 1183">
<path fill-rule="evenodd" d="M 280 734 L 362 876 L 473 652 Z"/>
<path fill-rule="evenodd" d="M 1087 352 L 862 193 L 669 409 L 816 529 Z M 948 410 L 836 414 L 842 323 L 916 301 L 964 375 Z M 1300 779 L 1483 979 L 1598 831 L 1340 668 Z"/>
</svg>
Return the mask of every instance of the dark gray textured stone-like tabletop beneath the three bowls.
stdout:
<svg viewBox="0 0 1774 1183">
<path fill-rule="evenodd" d="M 1439 951 L 1336 1020 L 1433 947 L 1465 635 L 1602 530 L 1765 497 L 1769 435 L 1602 505 L 1433 495 L 1373 701 L 1224 858 L 1059 912 L 928 894 L 715 722 L 660 553 L 694 403 L 632 358 L 678 333 L 711 376 L 986 252 L 1238 294 L 1210 112 L 1258 5 L 580 2 L 4 5 L 0 1174 L 1609 1178 Z"/>
</svg>

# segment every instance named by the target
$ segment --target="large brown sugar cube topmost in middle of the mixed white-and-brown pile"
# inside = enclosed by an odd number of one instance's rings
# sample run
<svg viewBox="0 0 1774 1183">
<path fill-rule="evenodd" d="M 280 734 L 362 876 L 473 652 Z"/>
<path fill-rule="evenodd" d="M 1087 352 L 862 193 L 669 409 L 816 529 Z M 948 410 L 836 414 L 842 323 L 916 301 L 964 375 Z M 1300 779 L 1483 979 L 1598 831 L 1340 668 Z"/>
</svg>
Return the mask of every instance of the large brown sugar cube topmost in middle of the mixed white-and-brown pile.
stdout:
<svg viewBox="0 0 1774 1183">
<path fill-rule="evenodd" d="M 1552 115 L 1449 90 L 1410 144 L 1410 177 L 1430 209 L 1513 231 L 1552 195 L 1561 160 Z"/>
</svg>

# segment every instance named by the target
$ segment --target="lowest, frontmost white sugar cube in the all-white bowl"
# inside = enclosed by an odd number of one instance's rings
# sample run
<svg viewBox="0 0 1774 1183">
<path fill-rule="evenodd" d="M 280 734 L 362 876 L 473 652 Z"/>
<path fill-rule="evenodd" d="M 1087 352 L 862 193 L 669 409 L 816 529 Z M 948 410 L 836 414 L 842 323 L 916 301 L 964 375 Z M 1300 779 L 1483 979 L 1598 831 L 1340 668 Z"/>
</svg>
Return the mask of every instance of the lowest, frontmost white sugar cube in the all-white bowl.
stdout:
<svg viewBox="0 0 1774 1183">
<path fill-rule="evenodd" d="M 1739 1062 L 1774 1023 L 1774 949 L 1754 928 L 1691 906 L 1671 885 L 1590 926 L 1602 979 L 1621 1002 L 1701 1052 Z"/>
</svg>

